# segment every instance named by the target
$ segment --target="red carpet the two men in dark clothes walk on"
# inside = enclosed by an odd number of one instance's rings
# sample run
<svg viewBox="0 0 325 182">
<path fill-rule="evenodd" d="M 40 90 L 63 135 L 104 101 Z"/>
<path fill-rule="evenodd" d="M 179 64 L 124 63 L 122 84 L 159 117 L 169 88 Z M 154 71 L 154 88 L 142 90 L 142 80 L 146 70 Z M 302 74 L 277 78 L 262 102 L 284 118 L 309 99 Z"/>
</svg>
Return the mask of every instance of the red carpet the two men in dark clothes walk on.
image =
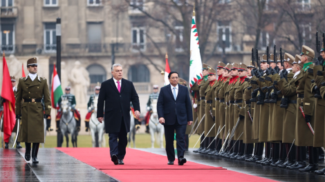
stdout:
<svg viewBox="0 0 325 182">
<path fill-rule="evenodd" d="M 113 165 L 109 148 L 57 148 L 118 181 L 272 181 L 259 176 L 189 162 L 167 165 L 167 156 L 127 148 L 125 165 Z"/>
</svg>

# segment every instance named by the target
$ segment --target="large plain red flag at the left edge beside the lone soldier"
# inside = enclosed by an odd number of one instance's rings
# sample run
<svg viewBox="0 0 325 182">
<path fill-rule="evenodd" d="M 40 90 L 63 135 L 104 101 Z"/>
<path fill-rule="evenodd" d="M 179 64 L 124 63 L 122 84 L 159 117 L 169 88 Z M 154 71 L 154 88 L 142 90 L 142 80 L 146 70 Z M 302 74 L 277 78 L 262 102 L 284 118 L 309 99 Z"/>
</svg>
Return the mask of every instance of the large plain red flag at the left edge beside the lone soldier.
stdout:
<svg viewBox="0 0 325 182">
<path fill-rule="evenodd" d="M 1 97 L 5 99 L 5 102 L 3 103 L 3 140 L 6 143 L 8 143 L 12 130 L 14 129 L 16 124 L 16 114 L 15 114 L 16 99 L 15 99 L 14 91 L 12 90 L 10 74 L 9 74 L 8 65 L 4 53 L 3 53 L 2 65 L 3 65 L 3 80 L 2 80 Z"/>
</svg>

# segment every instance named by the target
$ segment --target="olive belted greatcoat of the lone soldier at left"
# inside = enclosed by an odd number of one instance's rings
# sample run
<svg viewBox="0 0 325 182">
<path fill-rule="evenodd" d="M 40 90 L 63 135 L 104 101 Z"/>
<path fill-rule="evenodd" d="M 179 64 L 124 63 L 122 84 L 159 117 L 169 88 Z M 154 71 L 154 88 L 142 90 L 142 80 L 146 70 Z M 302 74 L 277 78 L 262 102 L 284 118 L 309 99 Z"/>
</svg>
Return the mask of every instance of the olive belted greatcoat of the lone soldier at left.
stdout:
<svg viewBox="0 0 325 182">
<path fill-rule="evenodd" d="M 44 110 L 40 102 L 43 97 L 45 114 L 50 115 L 50 93 L 46 79 L 38 75 L 34 81 L 29 76 L 19 79 L 16 94 L 16 114 L 21 114 L 18 141 L 44 143 Z M 22 99 L 24 103 L 21 103 Z"/>
</svg>

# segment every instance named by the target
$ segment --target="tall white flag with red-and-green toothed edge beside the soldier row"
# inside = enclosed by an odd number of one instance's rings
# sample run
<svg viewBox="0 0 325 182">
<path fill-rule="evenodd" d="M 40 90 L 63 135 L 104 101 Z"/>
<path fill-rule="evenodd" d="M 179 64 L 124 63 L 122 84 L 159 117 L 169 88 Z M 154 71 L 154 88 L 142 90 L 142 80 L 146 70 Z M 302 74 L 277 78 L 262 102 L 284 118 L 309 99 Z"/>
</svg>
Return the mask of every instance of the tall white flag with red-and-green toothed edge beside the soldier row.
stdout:
<svg viewBox="0 0 325 182">
<path fill-rule="evenodd" d="M 190 55 L 189 55 L 189 87 L 192 87 L 196 81 L 202 79 L 202 61 L 200 46 L 198 44 L 198 31 L 195 24 L 195 12 L 192 17 L 192 30 L 190 37 Z"/>
</svg>

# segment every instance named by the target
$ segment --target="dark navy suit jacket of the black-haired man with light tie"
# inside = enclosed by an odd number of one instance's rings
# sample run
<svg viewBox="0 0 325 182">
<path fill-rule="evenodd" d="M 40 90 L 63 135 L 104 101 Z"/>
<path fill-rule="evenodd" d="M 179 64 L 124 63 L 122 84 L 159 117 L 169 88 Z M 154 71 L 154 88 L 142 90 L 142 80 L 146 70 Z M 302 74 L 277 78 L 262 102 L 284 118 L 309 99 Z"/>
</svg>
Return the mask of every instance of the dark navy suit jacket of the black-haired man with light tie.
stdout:
<svg viewBox="0 0 325 182">
<path fill-rule="evenodd" d="M 158 118 L 165 119 L 165 125 L 174 125 L 177 121 L 180 125 L 186 125 L 193 121 L 192 103 L 189 99 L 187 87 L 178 84 L 176 101 L 171 93 L 171 85 L 161 88 L 157 103 Z"/>
</svg>

